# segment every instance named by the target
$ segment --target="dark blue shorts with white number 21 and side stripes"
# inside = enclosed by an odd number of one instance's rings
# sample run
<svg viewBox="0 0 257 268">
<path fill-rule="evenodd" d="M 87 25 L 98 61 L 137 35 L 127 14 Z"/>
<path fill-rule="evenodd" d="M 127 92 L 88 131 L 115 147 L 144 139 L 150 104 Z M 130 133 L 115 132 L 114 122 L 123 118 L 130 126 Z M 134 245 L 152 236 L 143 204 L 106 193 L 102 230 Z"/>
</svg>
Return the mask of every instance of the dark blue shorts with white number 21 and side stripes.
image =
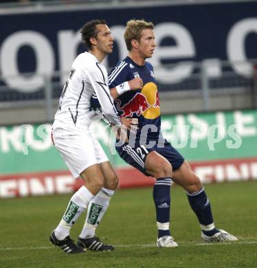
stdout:
<svg viewBox="0 0 257 268">
<path fill-rule="evenodd" d="M 157 153 L 165 157 L 171 164 L 172 170 L 179 168 L 185 159 L 183 156 L 165 139 L 163 148 L 158 148 L 157 144 L 152 148 L 146 148 L 144 145 L 140 145 L 139 142 L 135 142 L 135 146 L 129 146 L 128 143 L 122 146 L 116 146 L 120 157 L 130 164 L 134 168 L 143 172 L 144 175 L 149 176 L 146 173 L 144 162 L 146 161 L 146 156 L 151 151 L 155 150 Z"/>
</svg>

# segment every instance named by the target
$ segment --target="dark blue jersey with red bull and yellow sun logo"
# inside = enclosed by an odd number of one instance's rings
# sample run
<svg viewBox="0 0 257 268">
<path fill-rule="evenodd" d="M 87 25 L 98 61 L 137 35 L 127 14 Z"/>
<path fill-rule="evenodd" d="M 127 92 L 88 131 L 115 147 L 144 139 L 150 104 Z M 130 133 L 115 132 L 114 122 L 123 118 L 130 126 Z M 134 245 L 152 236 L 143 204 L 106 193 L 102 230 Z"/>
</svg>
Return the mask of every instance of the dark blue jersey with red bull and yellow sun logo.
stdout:
<svg viewBox="0 0 257 268">
<path fill-rule="evenodd" d="M 146 62 L 144 66 L 137 65 L 127 56 L 120 61 L 109 75 L 109 88 L 116 87 L 122 82 L 133 78 L 142 78 L 142 90 L 133 90 L 123 93 L 115 100 L 115 107 L 121 117 L 138 118 L 137 139 L 159 139 L 161 117 L 159 96 L 153 66 Z"/>
</svg>

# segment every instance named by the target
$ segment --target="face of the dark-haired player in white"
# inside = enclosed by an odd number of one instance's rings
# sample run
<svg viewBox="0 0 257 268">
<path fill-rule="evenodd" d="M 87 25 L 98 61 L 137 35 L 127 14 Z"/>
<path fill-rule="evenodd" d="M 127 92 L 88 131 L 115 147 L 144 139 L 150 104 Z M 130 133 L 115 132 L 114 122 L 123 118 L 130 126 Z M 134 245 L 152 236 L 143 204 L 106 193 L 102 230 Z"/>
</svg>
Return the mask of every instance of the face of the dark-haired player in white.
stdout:
<svg viewBox="0 0 257 268">
<path fill-rule="evenodd" d="M 109 27 L 105 24 L 98 24 L 96 25 L 96 30 L 98 32 L 96 36 L 96 48 L 106 54 L 110 54 L 111 52 L 113 52 L 114 39 L 111 35 Z"/>
</svg>

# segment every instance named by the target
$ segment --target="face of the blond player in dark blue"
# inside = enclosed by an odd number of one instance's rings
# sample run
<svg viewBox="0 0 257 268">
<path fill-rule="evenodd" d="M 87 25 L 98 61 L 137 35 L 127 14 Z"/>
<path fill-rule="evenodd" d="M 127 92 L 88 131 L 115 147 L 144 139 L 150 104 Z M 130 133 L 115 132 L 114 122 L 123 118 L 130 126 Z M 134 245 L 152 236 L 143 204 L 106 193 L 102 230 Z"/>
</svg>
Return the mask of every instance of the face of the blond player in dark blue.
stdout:
<svg viewBox="0 0 257 268">
<path fill-rule="evenodd" d="M 151 58 L 155 50 L 155 33 L 151 29 L 142 30 L 141 38 L 138 42 L 138 52 L 142 58 Z"/>
</svg>

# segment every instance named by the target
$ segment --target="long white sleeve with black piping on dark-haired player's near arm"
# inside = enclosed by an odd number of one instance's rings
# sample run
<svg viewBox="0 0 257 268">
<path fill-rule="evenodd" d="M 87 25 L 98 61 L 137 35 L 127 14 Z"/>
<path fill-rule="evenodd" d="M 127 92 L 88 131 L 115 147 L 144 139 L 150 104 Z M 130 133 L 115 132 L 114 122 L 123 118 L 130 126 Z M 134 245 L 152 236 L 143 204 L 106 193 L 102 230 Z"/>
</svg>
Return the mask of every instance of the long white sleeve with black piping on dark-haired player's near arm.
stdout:
<svg viewBox="0 0 257 268">
<path fill-rule="evenodd" d="M 100 67 L 92 68 L 86 71 L 87 79 L 89 80 L 93 90 L 96 93 L 98 101 L 100 103 L 102 115 L 108 122 L 121 126 L 122 122 L 118 117 L 118 113 L 113 105 L 113 98 L 111 97 L 109 87 L 104 79 L 104 74 Z"/>
</svg>

